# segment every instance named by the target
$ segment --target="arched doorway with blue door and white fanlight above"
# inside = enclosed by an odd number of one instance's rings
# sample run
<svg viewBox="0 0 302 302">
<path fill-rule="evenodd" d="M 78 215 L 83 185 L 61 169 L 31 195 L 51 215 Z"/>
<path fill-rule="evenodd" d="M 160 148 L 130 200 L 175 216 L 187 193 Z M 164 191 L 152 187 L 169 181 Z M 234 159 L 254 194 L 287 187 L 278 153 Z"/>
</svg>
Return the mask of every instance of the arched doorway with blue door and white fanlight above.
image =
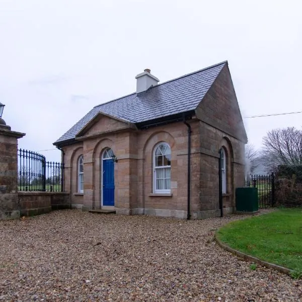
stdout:
<svg viewBox="0 0 302 302">
<path fill-rule="evenodd" d="M 114 162 L 113 150 L 106 148 L 102 155 L 101 200 L 102 206 L 114 206 Z"/>
</svg>

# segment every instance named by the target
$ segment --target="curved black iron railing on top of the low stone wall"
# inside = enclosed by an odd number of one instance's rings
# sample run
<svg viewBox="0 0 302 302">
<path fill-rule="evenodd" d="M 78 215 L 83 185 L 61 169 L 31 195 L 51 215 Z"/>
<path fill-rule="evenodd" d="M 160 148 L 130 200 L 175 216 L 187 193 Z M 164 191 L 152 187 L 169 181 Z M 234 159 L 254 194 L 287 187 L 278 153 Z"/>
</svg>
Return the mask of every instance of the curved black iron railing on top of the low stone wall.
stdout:
<svg viewBox="0 0 302 302">
<path fill-rule="evenodd" d="M 62 192 L 64 165 L 46 162 L 43 155 L 18 150 L 18 189 L 19 191 Z"/>
</svg>

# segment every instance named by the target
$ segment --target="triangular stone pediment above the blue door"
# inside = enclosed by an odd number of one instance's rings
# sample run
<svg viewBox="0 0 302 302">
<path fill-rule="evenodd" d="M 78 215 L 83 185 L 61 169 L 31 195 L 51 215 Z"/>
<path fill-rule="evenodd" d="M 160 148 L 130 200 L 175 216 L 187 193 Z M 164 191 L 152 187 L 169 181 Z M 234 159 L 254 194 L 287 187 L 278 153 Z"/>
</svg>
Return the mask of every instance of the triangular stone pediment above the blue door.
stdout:
<svg viewBox="0 0 302 302">
<path fill-rule="evenodd" d="M 100 112 L 75 137 L 91 137 L 134 128 L 135 125 L 131 122 Z"/>
</svg>

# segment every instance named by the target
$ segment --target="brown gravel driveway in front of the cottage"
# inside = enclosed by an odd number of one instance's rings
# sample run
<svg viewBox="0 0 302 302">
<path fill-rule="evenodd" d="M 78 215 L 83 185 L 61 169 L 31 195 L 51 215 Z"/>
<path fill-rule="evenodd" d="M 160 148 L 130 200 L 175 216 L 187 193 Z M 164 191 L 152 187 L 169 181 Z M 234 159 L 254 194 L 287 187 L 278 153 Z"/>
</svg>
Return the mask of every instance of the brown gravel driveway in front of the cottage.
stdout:
<svg viewBox="0 0 302 302">
<path fill-rule="evenodd" d="M 62 210 L 0 221 L 0 301 L 302 301 L 302 280 L 253 271 L 213 241 L 242 217 Z"/>
</svg>

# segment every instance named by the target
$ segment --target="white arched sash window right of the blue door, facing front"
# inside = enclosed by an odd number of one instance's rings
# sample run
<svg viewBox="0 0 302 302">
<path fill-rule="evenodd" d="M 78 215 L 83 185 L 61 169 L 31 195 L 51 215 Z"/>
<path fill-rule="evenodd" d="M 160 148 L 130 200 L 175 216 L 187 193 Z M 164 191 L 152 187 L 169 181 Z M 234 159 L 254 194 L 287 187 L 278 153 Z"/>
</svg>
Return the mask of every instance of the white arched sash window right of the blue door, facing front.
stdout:
<svg viewBox="0 0 302 302">
<path fill-rule="evenodd" d="M 154 150 L 154 193 L 171 192 L 171 148 L 162 142 Z"/>
</svg>

